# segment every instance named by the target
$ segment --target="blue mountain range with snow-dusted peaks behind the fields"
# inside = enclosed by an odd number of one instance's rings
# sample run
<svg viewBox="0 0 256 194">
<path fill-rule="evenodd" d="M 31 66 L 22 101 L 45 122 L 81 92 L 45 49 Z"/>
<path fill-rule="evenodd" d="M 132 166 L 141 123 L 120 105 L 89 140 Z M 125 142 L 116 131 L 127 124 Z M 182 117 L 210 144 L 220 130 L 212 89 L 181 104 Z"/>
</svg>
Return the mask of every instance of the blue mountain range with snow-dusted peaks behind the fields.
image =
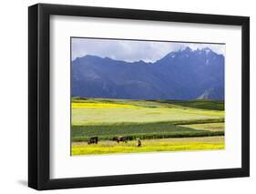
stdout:
<svg viewBox="0 0 256 194">
<path fill-rule="evenodd" d="M 209 47 L 172 51 L 154 63 L 87 55 L 71 70 L 72 97 L 224 99 L 224 56 Z"/>
</svg>

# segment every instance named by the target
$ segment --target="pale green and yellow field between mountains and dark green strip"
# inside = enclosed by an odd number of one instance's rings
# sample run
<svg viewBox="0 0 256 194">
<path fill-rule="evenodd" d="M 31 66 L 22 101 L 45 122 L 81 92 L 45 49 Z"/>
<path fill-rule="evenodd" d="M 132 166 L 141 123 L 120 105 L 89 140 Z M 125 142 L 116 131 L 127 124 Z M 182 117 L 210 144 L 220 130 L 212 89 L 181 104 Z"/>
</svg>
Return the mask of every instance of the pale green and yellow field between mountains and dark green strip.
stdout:
<svg viewBox="0 0 256 194">
<path fill-rule="evenodd" d="M 224 110 L 180 106 L 180 101 L 74 99 L 72 126 L 223 119 Z M 185 102 L 183 102 L 185 103 Z M 194 101 L 191 101 L 194 106 Z M 204 104 L 206 104 L 204 102 Z M 212 102 L 210 101 L 210 104 Z"/>
</svg>

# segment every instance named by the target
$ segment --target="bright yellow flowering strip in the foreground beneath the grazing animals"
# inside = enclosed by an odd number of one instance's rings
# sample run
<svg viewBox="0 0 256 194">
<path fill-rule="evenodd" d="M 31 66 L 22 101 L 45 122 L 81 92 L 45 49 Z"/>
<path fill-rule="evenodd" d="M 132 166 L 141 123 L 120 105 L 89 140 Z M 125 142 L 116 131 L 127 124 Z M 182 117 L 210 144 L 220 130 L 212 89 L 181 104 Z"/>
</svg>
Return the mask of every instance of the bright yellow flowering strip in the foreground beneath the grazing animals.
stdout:
<svg viewBox="0 0 256 194">
<path fill-rule="evenodd" d="M 97 145 L 87 145 L 87 143 L 73 143 L 72 156 L 75 155 L 97 155 L 116 153 L 141 153 L 155 151 L 190 151 L 190 150 L 210 150 L 225 148 L 223 138 L 168 138 L 168 139 L 144 139 L 142 147 L 137 148 L 136 141 L 128 143 L 117 143 L 113 141 L 102 141 Z"/>
</svg>

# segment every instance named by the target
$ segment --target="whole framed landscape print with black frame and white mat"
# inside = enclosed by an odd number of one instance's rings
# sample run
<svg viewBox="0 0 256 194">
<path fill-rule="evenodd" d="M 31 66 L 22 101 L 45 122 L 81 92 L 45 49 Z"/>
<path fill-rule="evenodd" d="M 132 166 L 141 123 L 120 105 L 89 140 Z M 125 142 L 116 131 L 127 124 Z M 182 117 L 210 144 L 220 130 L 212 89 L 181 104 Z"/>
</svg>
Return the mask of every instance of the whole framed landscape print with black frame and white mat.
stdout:
<svg viewBox="0 0 256 194">
<path fill-rule="evenodd" d="M 250 19 L 28 8 L 28 186 L 250 174 Z"/>
</svg>

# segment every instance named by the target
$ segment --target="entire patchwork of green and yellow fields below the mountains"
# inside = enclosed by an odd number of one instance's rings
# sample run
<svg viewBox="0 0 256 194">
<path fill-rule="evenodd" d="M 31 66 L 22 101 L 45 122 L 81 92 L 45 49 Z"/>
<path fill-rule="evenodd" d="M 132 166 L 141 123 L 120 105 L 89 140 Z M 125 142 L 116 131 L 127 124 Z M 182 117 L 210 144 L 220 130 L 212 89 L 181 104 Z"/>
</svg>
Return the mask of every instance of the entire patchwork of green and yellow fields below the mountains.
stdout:
<svg viewBox="0 0 256 194">
<path fill-rule="evenodd" d="M 224 148 L 224 138 L 216 144 L 195 142 L 196 137 L 224 136 L 223 101 L 125 100 L 72 98 L 72 155 Z M 110 141 L 122 136 L 125 145 Z M 87 145 L 98 137 L 99 143 Z M 142 139 L 141 148 L 134 139 Z M 165 139 L 187 139 L 185 142 Z M 180 143 L 180 145 L 179 145 Z M 186 146 L 187 144 L 187 146 Z"/>
</svg>

